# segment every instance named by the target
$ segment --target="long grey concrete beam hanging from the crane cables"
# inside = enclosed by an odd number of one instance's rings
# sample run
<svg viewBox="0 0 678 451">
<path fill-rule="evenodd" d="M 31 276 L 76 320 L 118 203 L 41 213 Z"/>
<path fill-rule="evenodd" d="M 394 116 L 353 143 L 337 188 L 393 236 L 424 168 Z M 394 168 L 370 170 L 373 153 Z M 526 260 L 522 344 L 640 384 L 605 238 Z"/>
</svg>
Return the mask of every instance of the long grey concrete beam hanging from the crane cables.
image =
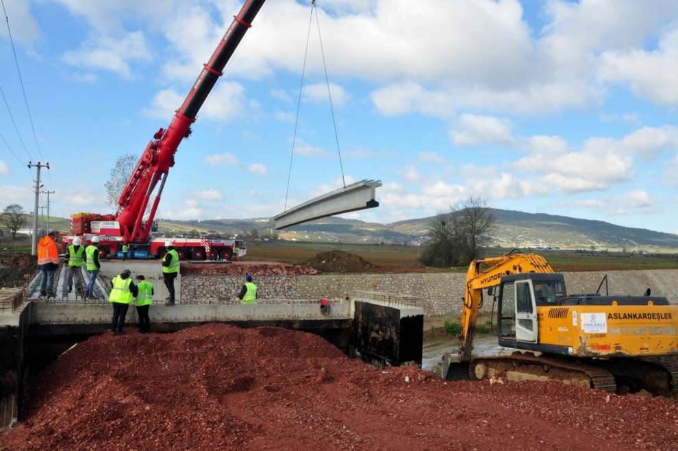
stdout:
<svg viewBox="0 0 678 451">
<path fill-rule="evenodd" d="M 380 180 L 362 180 L 299 204 L 273 217 L 275 230 L 349 211 L 378 207 L 375 194 L 379 186 Z"/>
</svg>

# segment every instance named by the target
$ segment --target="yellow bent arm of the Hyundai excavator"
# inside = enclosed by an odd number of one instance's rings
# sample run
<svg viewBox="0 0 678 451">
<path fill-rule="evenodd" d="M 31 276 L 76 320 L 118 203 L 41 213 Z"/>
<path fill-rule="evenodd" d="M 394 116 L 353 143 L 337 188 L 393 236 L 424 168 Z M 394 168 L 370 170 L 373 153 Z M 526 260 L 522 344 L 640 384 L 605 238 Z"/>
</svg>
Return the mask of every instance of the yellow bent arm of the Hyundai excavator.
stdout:
<svg viewBox="0 0 678 451">
<path fill-rule="evenodd" d="M 484 267 L 486 269 L 483 269 Z M 554 271 L 544 257 L 536 254 L 511 253 L 501 257 L 473 260 L 468 265 L 464 297 L 462 298 L 464 306 L 462 308 L 462 333 L 460 334 L 457 357 L 459 361 L 470 361 L 478 310 L 482 304 L 483 289 L 499 285 L 504 276 L 530 272 L 553 273 Z"/>
</svg>

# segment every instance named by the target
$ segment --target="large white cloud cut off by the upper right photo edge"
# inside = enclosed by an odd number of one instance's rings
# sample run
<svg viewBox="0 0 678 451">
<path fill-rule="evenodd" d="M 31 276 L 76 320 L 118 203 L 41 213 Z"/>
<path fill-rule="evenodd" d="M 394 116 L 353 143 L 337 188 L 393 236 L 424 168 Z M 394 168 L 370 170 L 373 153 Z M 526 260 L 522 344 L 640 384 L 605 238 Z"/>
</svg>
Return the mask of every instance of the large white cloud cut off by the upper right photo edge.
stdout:
<svg viewBox="0 0 678 451">
<path fill-rule="evenodd" d="M 678 105 L 678 27 L 662 37 L 656 50 L 610 50 L 601 61 L 602 80 L 626 83 L 633 94 L 656 103 Z"/>
</svg>

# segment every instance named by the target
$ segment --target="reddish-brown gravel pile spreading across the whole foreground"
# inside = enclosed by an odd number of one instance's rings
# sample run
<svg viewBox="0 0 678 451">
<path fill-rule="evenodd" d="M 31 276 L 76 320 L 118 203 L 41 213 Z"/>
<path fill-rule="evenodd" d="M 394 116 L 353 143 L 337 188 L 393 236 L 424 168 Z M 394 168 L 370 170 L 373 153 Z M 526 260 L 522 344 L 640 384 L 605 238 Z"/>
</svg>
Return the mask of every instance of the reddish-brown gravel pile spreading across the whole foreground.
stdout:
<svg viewBox="0 0 678 451">
<path fill-rule="evenodd" d="M 279 328 L 94 337 L 33 393 L 0 450 L 678 448 L 663 398 L 381 371 Z"/>
</svg>

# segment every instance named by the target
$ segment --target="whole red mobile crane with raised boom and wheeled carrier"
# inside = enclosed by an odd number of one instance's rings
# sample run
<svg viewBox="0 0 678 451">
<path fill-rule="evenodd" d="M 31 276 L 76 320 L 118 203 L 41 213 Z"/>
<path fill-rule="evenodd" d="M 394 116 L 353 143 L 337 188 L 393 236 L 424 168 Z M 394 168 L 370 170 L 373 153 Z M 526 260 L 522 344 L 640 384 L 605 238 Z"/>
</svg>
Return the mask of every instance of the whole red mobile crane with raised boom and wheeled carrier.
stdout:
<svg viewBox="0 0 678 451">
<path fill-rule="evenodd" d="M 86 241 L 93 235 L 99 235 L 99 254 L 101 257 L 108 254 L 116 255 L 123 243 L 127 243 L 137 257 L 158 257 L 164 250 L 164 238 L 151 239 L 154 228 L 155 212 L 158 210 L 160 196 L 167 181 L 169 169 L 174 166 L 174 154 L 181 140 L 188 138 L 192 130 L 190 125 L 195 121 L 197 114 L 214 87 L 218 77 L 223 75 L 223 69 L 240 40 L 265 0 L 247 0 L 238 15 L 212 53 L 212 58 L 203 64 L 198 79 L 193 84 L 181 108 L 175 112 L 167 129 L 160 128 L 153 134 L 153 140 L 146 146 L 144 153 L 134 167 L 120 199 L 116 215 L 77 214 L 71 217 L 71 232 L 74 235 L 86 234 Z M 144 213 L 151 199 L 151 194 L 160 183 L 158 194 L 151 206 L 146 221 Z M 62 241 L 62 249 L 72 241 L 70 236 Z M 201 260 L 205 257 L 224 258 L 230 260 L 234 254 L 244 255 L 244 243 L 235 240 L 215 239 L 172 239 L 177 247 L 179 258 L 194 258 Z"/>
</svg>

